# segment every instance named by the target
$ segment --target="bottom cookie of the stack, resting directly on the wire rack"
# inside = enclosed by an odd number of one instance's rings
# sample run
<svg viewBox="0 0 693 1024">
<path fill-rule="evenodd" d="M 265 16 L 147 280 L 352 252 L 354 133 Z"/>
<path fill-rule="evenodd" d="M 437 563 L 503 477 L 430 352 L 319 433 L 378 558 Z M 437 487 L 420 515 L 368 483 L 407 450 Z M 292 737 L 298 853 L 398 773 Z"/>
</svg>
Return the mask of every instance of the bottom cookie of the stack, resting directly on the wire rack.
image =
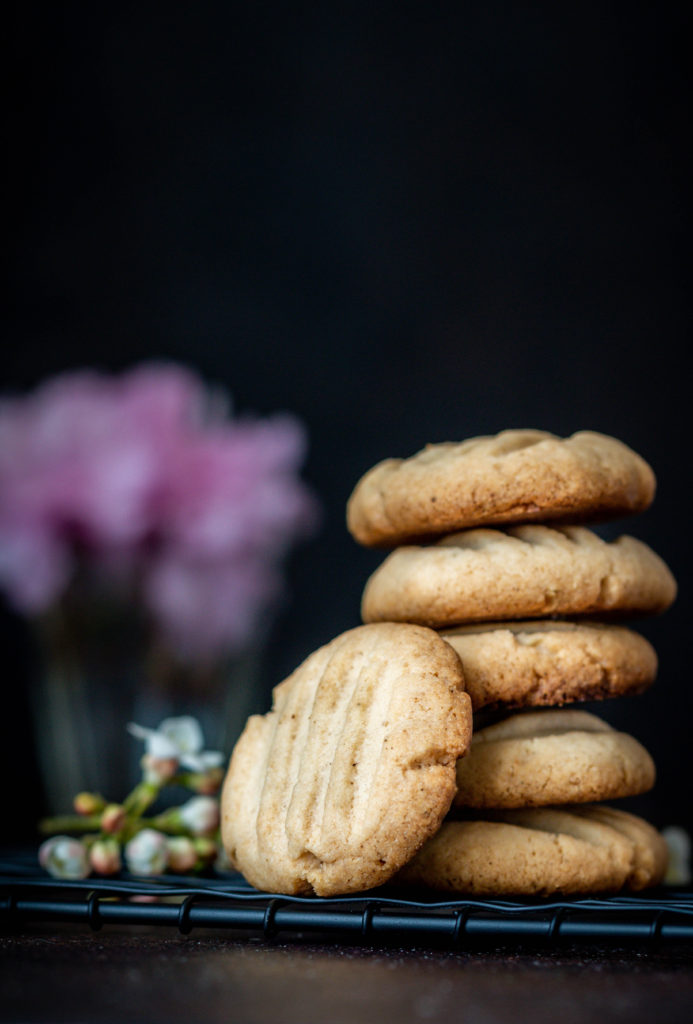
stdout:
<svg viewBox="0 0 693 1024">
<path fill-rule="evenodd" d="M 395 881 L 477 897 L 584 896 L 657 885 L 665 864 L 642 818 L 547 807 L 445 821 Z"/>
</svg>

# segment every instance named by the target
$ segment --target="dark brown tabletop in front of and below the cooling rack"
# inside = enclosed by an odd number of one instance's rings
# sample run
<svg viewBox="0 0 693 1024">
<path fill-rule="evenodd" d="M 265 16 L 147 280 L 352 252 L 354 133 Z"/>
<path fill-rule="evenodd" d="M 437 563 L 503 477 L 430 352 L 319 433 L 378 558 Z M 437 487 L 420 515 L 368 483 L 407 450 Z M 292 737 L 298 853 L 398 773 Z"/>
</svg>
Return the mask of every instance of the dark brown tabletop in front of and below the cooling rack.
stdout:
<svg viewBox="0 0 693 1024">
<path fill-rule="evenodd" d="M 693 1020 L 693 949 L 431 949 L 151 927 L 0 935 L 3 1021 Z"/>
</svg>

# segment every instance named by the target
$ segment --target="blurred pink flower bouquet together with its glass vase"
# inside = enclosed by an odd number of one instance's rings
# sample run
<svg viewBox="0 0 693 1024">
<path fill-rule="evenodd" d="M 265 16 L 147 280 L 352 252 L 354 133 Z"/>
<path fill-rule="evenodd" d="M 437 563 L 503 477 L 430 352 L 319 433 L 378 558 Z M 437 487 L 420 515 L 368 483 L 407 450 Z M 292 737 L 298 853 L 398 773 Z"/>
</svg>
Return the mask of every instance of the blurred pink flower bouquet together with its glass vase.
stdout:
<svg viewBox="0 0 693 1024">
<path fill-rule="evenodd" d="M 173 365 L 0 401 L 0 591 L 37 627 L 54 810 L 129 784 L 128 720 L 193 714 L 227 751 L 248 714 L 284 559 L 317 502 L 297 420 L 227 406 Z"/>
</svg>

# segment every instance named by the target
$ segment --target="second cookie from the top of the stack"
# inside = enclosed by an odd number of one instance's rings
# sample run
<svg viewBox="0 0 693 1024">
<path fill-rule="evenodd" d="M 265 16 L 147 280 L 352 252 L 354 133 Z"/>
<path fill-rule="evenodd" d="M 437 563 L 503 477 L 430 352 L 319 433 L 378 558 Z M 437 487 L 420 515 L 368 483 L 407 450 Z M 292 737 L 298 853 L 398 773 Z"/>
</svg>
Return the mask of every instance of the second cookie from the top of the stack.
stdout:
<svg viewBox="0 0 693 1024">
<path fill-rule="evenodd" d="M 468 529 L 391 552 L 365 585 L 364 622 L 442 629 L 506 618 L 654 614 L 676 597 L 669 569 L 633 537 L 583 526 Z"/>
</svg>

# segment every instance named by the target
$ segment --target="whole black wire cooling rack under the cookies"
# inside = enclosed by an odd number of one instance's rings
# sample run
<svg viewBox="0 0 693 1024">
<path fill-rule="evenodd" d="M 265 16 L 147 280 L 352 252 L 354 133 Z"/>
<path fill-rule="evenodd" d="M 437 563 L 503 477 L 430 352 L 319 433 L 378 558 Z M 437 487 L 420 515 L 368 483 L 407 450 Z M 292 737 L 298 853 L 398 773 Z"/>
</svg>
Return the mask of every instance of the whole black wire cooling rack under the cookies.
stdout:
<svg viewBox="0 0 693 1024">
<path fill-rule="evenodd" d="M 0 926 L 31 922 L 168 926 L 324 941 L 471 946 L 492 942 L 600 945 L 693 943 L 693 892 L 545 901 L 445 899 L 379 889 L 334 899 L 258 892 L 239 874 L 57 881 L 33 857 L 0 859 Z"/>
</svg>

